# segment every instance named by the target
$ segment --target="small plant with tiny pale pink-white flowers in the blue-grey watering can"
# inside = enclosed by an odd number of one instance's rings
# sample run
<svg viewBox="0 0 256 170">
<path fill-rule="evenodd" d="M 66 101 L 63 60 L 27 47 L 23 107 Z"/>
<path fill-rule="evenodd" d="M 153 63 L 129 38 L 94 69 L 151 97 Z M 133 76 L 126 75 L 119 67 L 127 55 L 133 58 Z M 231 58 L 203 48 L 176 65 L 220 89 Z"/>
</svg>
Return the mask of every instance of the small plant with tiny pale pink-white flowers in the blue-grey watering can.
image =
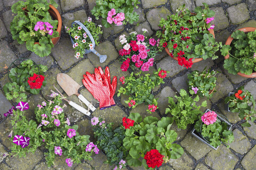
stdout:
<svg viewBox="0 0 256 170">
<path fill-rule="evenodd" d="M 90 31 L 94 41 L 95 45 L 99 44 L 99 35 L 102 34 L 102 31 L 100 29 L 100 25 L 96 25 L 94 22 L 92 22 L 92 19 L 88 17 L 88 20 L 83 23 L 85 27 Z M 81 25 L 75 24 L 71 28 L 67 28 L 67 32 L 73 39 L 74 43 L 73 48 L 76 50 L 76 58 L 84 57 L 85 49 L 93 49 L 93 44 L 90 39 L 90 37 L 87 35 L 86 31 L 81 27 Z"/>
</svg>

